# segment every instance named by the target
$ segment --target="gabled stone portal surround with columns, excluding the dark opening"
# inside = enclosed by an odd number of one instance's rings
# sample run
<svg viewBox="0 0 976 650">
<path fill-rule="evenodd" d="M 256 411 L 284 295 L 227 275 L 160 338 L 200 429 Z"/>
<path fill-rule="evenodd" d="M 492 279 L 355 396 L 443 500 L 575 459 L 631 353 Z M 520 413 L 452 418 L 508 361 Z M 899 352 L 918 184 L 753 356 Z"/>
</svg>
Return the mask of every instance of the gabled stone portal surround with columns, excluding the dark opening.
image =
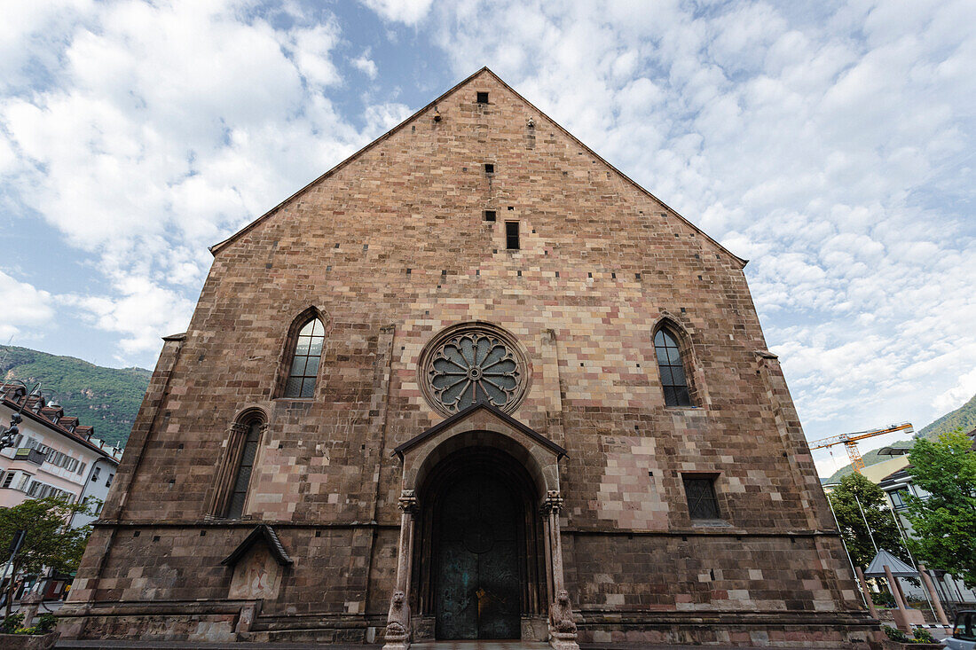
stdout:
<svg viewBox="0 0 976 650">
<path fill-rule="evenodd" d="M 567 457 L 566 450 L 487 403 L 469 406 L 394 449 L 403 463 L 403 483 L 399 499 L 396 586 L 386 618 L 384 650 L 410 647 L 411 566 L 414 526 L 420 507 L 417 491 L 440 461 L 469 447 L 491 447 L 506 452 L 525 467 L 535 482 L 546 537 L 549 643 L 557 650 L 578 650 L 576 625 L 563 579 L 559 534 L 559 512 L 563 503 L 559 491 L 559 461 Z"/>
</svg>

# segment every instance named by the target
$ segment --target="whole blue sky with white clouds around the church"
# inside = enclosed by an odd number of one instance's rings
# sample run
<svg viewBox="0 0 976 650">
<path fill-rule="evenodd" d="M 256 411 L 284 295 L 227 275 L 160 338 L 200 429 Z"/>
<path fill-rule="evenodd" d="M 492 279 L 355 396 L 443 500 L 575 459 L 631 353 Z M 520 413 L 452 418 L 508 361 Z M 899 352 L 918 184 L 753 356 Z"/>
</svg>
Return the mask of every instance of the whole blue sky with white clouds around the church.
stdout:
<svg viewBox="0 0 976 650">
<path fill-rule="evenodd" d="M 0 343 L 151 368 L 207 246 L 488 65 L 752 260 L 809 438 L 976 392 L 976 0 L 0 4 Z"/>
</svg>

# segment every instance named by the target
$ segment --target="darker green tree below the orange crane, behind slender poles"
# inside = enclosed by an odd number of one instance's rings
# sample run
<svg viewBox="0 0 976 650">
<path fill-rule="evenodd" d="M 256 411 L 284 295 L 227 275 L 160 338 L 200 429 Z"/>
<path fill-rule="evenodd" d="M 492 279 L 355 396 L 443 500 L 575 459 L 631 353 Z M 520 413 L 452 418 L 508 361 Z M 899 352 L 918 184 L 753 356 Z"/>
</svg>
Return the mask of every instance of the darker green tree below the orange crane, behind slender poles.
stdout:
<svg viewBox="0 0 976 650">
<path fill-rule="evenodd" d="M 884 492 L 881 488 L 855 472 L 841 478 L 840 485 L 827 495 L 827 498 L 831 500 L 831 505 L 834 507 L 840 534 L 855 564 L 866 566 L 874 559 L 872 536 L 877 548 L 884 548 L 902 559 L 908 559 L 901 534 L 884 500 Z M 861 502 L 860 508 L 858 502 Z M 867 525 L 865 518 L 868 519 Z"/>
</svg>

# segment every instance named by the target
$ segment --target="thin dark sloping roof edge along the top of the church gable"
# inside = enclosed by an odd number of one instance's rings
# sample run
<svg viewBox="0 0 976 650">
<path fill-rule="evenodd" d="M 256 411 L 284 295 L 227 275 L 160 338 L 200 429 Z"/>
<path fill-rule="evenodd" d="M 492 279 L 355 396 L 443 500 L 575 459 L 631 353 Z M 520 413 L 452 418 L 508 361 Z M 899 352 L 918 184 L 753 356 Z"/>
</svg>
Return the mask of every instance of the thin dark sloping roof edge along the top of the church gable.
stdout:
<svg viewBox="0 0 976 650">
<path fill-rule="evenodd" d="M 569 138 L 572 142 L 575 142 L 576 144 L 578 144 L 579 146 L 581 146 L 593 158 L 595 158 L 596 160 L 600 161 L 603 165 L 606 165 L 606 167 L 608 169 L 610 169 L 612 172 L 614 172 L 615 174 L 617 174 L 618 176 L 620 176 L 621 179 L 623 179 L 627 183 L 630 183 L 630 185 L 632 185 L 637 191 L 639 191 L 642 194 L 645 194 L 645 195 L 649 196 L 651 199 L 653 199 L 653 200 L 657 201 L 658 203 L 660 203 L 668 211 L 668 213 L 671 216 L 677 218 L 682 223 L 684 223 L 685 225 L 687 225 L 688 227 L 690 227 L 692 230 L 694 230 L 696 233 L 700 234 L 702 237 L 704 237 L 709 242 L 711 242 L 715 247 L 717 247 L 720 251 L 722 251 L 723 253 L 725 253 L 729 257 L 731 257 L 733 260 L 735 260 L 736 262 L 738 262 L 739 264 L 741 264 L 743 267 L 745 267 L 745 265 L 748 263 L 747 260 L 743 260 L 739 256 L 737 256 L 734 253 L 732 253 L 731 251 L 729 251 L 727 248 L 725 248 L 724 246 L 722 246 L 721 244 L 719 244 L 717 241 L 715 241 L 714 239 L 712 239 L 712 237 L 710 237 L 708 235 L 708 233 L 704 232 L 697 225 L 695 225 L 694 223 L 689 222 L 687 219 L 685 219 L 684 217 L 682 217 L 681 215 L 679 215 L 667 203 L 665 203 L 664 201 L 662 201 L 661 199 L 659 199 L 657 196 L 655 196 L 654 194 L 652 194 L 651 192 L 649 192 L 648 190 L 646 190 L 644 187 L 642 187 L 641 185 L 639 185 L 638 183 L 636 183 L 635 181 L 633 181 L 629 176 L 627 176 L 626 174 L 624 174 L 623 172 L 621 172 L 619 169 L 617 169 L 616 167 L 614 167 L 613 165 L 611 165 L 609 162 L 607 162 L 606 160 L 604 160 L 598 153 L 596 153 L 595 151 L 593 151 L 592 149 L 590 149 L 589 146 L 587 146 L 586 144 L 584 144 L 583 142 L 581 142 L 576 136 L 574 136 L 573 134 L 571 134 L 569 131 L 567 131 L 566 129 L 564 129 L 559 123 L 557 123 L 555 120 L 553 120 L 551 117 L 549 117 L 549 115 L 547 115 L 542 110 L 540 110 L 539 108 L 537 108 L 535 106 L 535 104 L 533 104 L 532 102 L 529 102 L 524 97 L 522 97 L 521 95 L 519 95 L 517 91 L 515 91 L 513 88 L 511 88 L 511 86 L 509 86 L 497 74 L 495 74 L 494 72 L 492 72 L 487 66 L 482 67 L 478 71 L 474 72 L 473 74 L 471 74 L 470 76 L 468 76 L 468 78 L 466 78 L 465 80 L 463 80 L 460 83 L 456 84 L 453 88 L 451 88 L 449 91 L 447 91 L 443 95 L 439 96 L 433 102 L 429 102 L 426 106 L 424 106 L 423 108 L 421 108 L 420 110 L 418 110 L 417 112 L 415 112 L 413 115 L 411 115 L 407 119 L 403 120 L 402 122 L 400 122 L 399 124 L 397 124 L 396 126 L 394 126 L 392 129 L 390 129 L 389 131 L 387 131 L 384 135 L 380 136 L 379 138 L 377 138 L 373 142 L 370 142 L 369 144 L 367 144 L 363 148 L 359 149 L 358 151 L 356 151 L 355 153 L 353 153 L 351 156 L 349 156 L 348 158 L 346 158 L 346 160 L 342 161 L 341 163 L 339 163 L 338 165 L 336 165 L 335 167 L 333 167 L 328 172 L 326 172 L 322 176 L 318 177 L 317 179 L 315 179 L 311 183 L 306 184 L 305 187 L 303 187 L 302 189 L 298 190 L 297 192 L 295 192 L 294 194 L 292 194 L 291 196 L 289 196 L 288 198 L 286 198 L 284 201 L 282 201 L 278 205 L 276 205 L 273 208 L 271 208 L 270 210 L 268 210 L 266 213 L 264 213 L 264 215 L 262 215 L 261 217 L 259 217 L 255 221 L 253 221 L 251 223 L 248 223 L 243 228 L 241 228 L 240 230 L 238 230 L 234 234 L 232 234 L 229 237 L 227 237 L 226 239 L 224 239 L 224 241 L 218 242 L 217 244 L 214 244 L 213 246 L 211 246 L 210 247 L 211 254 L 216 257 L 217 254 L 225 246 L 227 246 L 228 244 L 230 244 L 231 242 L 233 242 L 234 240 L 236 240 L 238 237 L 240 237 L 240 236 L 244 235 L 246 232 L 249 232 L 250 230 L 254 229 L 260 223 L 264 223 L 264 221 L 266 221 L 267 219 L 269 219 L 270 217 L 272 217 L 275 213 L 277 213 L 283 207 L 285 207 L 286 205 L 288 205 L 292 200 L 294 200 L 294 199 L 298 198 L 299 196 L 301 196 L 302 194 L 304 194 L 305 191 L 307 191 L 308 189 L 310 189 L 312 186 L 314 186 L 314 185 L 316 185 L 318 183 L 321 183 L 322 181 L 325 181 L 326 179 L 328 179 L 329 177 L 333 176 L 338 171 L 340 171 L 341 169 L 343 169 L 344 167 L 346 167 L 346 165 L 348 165 L 349 163 L 351 163 L 352 161 L 354 161 L 356 158 L 358 158 L 359 156 L 361 156 L 366 151 L 369 151 L 370 149 L 372 149 L 374 146 L 376 146 L 380 142 L 384 142 L 388 138 L 390 138 L 391 136 L 393 136 L 394 134 L 398 133 L 401 129 L 403 129 L 408 124 L 410 124 L 410 122 L 414 121 L 415 119 L 417 119 L 418 117 L 420 117 L 421 115 L 423 115 L 430 108 L 434 107 L 437 103 L 444 102 L 449 96 L 453 95 L 456 91 L 458 91 L 462 87 L 468 85 L 468 83 L 470 81 L 472 81 L 474 78 L 476 78 L 477 76 L 481 75 L 482 73 L 490 74 L 499 84 L 501 84 L 506 90 L 508 90 L 508 92 L 510 92 L 512 95 L 514 95 L 520 102 L 524 102 L 529 108 L 531 108 L 532 110 L 535 110 L 536 112 L 538 112 L 540 116 L 546 118 L 549 121 L 549 123 L 555 129 L 557 129 L 559 132 L 561 132 L 564 136 L 566 136 L 567 138 Z"/>
</svg>

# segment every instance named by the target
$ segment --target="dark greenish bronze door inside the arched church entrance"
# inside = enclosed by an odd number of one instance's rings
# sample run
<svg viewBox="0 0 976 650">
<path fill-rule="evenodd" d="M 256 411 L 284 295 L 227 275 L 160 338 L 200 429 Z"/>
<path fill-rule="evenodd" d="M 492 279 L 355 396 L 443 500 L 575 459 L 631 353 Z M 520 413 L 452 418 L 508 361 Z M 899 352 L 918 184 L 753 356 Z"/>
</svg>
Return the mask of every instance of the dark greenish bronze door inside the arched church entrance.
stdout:
<svg viewBox="0 0 976 650">
<path fill-rule="evenodd" d="M 520 637 L 519 514 L 490 474 L 447 486 L 434 520 L 437 638 Z"/>
</svg>

